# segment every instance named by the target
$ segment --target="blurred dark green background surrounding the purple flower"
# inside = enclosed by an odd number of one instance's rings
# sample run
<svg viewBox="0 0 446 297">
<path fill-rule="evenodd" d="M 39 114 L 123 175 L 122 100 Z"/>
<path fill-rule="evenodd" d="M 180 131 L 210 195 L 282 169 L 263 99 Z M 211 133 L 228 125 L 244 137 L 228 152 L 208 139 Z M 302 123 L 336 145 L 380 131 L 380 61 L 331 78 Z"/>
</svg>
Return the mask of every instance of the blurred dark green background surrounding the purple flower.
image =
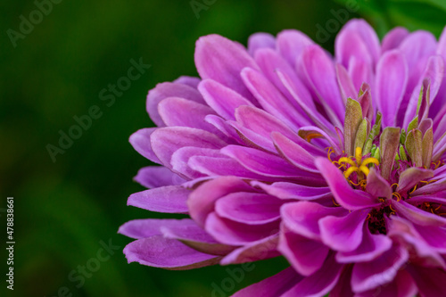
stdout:
<svg viewBox="0 0 446 297">
<path fill-rule="evenodd" d="M 39 21 L 34 11 L 45 2 L 0 4 L 2 296 L 211 296 L 213 284 L 228 277 L 222 267 L 168 271 L 128 265 L 121 250 L 130 240 L 116 233 L 130 219 L 166 217 L 126 206 L 129 194 L 144 189 L 132 177 L 149 164 L 128 144 L 128 136 L 153 125 L 145 112 L 150 88 L 196 75 L 198 37 L 218 33 L 246 44 L 257 31 L 301 29 L 316 38 L 329 21 L 336 23 L 334 12 L 348 5 L 359 8 L 348 17 L 368 19 L 380 37 L 395 25 L 439 36 L 446 20 L 444 0 L 198 0 L 194 5 L 203 9 L 197 13 L 188 0 L 54 0 L 58 4 Z M 21 15 L 29 20 L 30 13 L 36 24 L 19 36 Z M 330 33 L 323 43 L 329 51 L 334 38 Z M 151 68 L 107 106 L 100 91 L 126 76 L 130 60 L 141 57 Z M 94 105 L 102 116 L 52 161 L 47 144 L 58 146 L 59 131 L 68 133 L 76 124 L 73 117 Z M 15 206 L 13 292 L 4 282 L 7 196 L 14 197 Z M 101 242 L 117 250 L 97 261 Z M 87 270 L 81 281 L 78 269 L 86 265 L 95 271 Z M 226 294 L 283 267 L 282 259 L 256 263 Z"/>
</svg>

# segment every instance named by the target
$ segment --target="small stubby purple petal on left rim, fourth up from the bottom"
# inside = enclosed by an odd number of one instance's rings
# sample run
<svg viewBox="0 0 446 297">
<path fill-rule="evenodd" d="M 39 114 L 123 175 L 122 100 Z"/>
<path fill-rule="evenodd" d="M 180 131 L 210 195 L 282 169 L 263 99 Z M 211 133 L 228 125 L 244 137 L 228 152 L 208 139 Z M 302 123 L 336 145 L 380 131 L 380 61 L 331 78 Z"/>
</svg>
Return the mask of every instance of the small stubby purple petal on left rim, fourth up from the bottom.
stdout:
<svg viewBox="0 0 446 297">
<path fill-rule="evenodd" d="M 178 186 L 186 181 L 164 166 L 147 166 L 139 169 L 134 180 L 147 188 Z"/>
</svg>

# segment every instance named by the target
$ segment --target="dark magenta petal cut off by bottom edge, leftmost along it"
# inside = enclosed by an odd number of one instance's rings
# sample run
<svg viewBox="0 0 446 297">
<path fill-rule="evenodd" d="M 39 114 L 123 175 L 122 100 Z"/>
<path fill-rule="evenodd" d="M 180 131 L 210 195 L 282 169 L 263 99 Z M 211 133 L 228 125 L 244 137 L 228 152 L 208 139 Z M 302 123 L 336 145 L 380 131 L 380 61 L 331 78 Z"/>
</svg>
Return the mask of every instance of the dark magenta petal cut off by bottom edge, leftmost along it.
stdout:
<svg viewBox="0 0 446 297">
<path fill-rule="evenodd" d="M 293 268 L 286 268 L 275 276 L 238 291 L 231 297 L 282 297 L 283 293 L 301 281 L 301 278 Z"/>
</svg>

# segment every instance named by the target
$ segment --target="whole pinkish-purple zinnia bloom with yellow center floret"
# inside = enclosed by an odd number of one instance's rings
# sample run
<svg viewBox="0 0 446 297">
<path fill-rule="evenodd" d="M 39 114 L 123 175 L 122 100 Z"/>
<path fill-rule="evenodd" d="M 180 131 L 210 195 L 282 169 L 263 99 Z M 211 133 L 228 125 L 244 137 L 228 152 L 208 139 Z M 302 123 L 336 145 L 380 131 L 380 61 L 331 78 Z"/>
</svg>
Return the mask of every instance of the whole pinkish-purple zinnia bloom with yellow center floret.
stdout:
<svg viewBox="0 0 446 297">
<path fill-rule="evenodd" d="M 349 21 L 335 56 L 297 30 L 196 43 L 200 78 L 157 85 L 160 166 L 128 205 L 185 214 L 120 227 L 128 261 L 169 269 L 280 255 L 235 296 L 446 296 L 446 30 Z"/>
</svg>

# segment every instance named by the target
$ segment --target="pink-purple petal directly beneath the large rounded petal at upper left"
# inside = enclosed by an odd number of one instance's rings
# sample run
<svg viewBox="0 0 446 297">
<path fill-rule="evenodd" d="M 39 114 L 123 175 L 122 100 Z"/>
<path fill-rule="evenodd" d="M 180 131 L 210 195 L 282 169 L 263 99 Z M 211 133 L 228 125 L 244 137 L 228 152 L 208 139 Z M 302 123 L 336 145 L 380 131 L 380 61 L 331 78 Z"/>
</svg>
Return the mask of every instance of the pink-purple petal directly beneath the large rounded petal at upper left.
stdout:
<svg viewBox="0 0 446 297">
<path fill-rule="evenodd" d="M 235 110 L 241 105 L 253 106 L 250 101 L 212 79 L 204 79 L 198 86 L 206 103 L 221 117 L 235 120 Z"/>
</svg>

